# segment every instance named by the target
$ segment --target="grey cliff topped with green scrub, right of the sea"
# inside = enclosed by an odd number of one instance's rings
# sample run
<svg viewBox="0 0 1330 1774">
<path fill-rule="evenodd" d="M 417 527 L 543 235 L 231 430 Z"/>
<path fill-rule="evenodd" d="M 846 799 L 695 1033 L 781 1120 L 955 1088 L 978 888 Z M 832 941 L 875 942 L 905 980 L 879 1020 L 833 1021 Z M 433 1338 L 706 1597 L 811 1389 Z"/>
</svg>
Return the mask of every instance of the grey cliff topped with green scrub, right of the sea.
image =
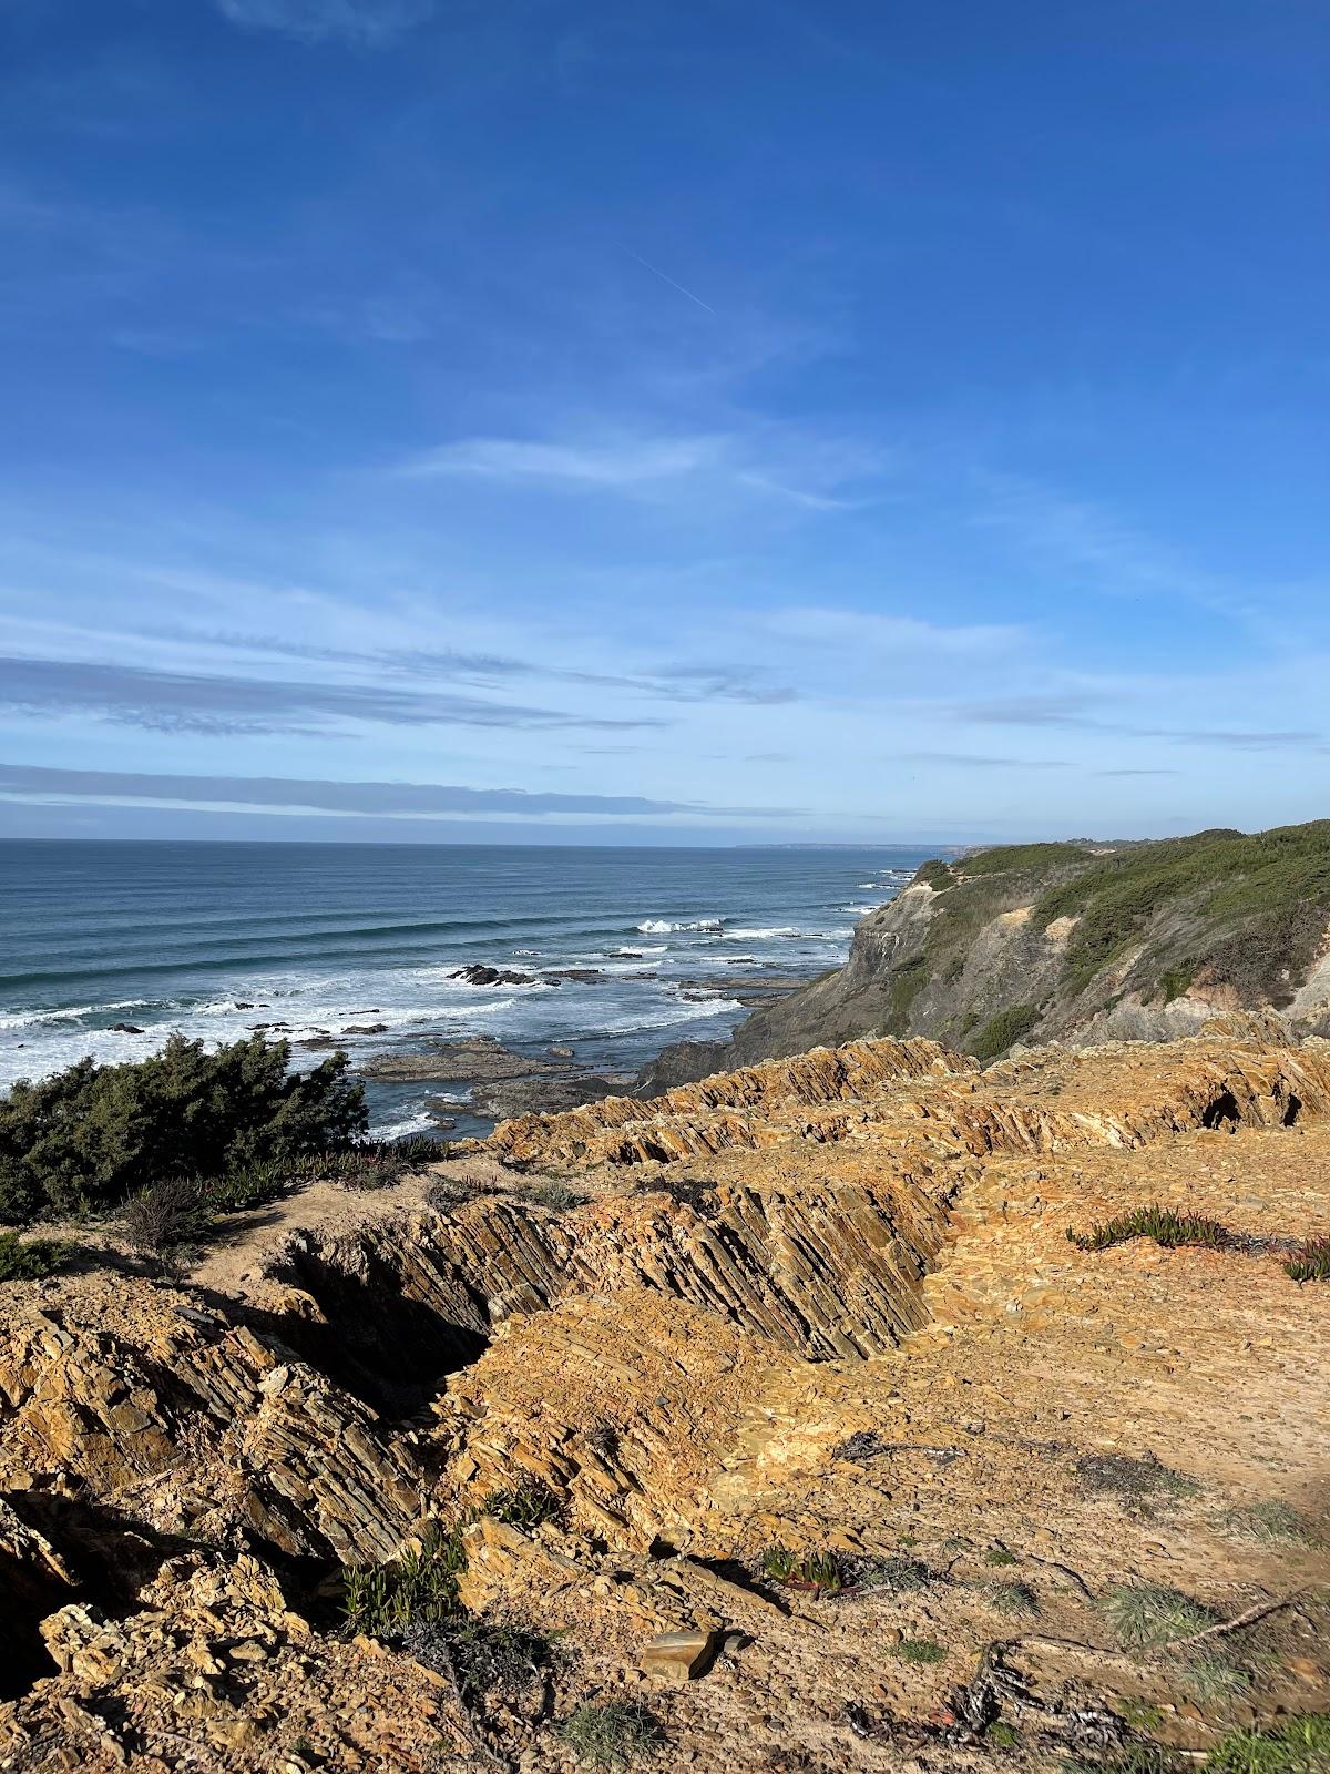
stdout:
<svg viewBox="0 0 1330 1774">
<path fill-rule="evenodd" d="M 1270 1032 L 1330 1032 L 1330 821 L 924 864 L 858 924 L 842 969 L 695 1063 L 865 1034 L 993 1059 L 1016 1041 L 1169 1041 L 1234 1011 L 1282 1018 Z M 677 1080 L 686 1057 L 667 1050 L 660 1077 Z"/>
</svg>

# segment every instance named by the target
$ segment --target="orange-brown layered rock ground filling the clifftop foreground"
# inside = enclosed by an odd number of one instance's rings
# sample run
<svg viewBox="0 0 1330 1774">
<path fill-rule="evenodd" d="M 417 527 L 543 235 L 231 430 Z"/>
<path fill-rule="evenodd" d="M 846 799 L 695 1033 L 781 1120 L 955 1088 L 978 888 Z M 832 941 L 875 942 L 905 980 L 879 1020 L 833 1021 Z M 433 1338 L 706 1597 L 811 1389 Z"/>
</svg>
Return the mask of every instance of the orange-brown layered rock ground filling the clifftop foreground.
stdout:
<svg viewBox="0 0 1330 1774">
<path fill-rule="evenodd" d="M 1330 1707 L 1330 1323 L 1282 1267 L 1326 1176 L 1326 1043 L 857 1041 L 314 1190 L 225 1288 L 9 1284 L 0 1762 L 564 1774 L 559 1721 L 645 1699 L 661 1770 L 975 1767 L 993 1719 L 1034 1769 Z M 1068 1240 L 1142 1206 L 1225 1231 Z M 520 1696 L 339 1625 L 429 1522 L 468 1630 L 560 1636 Z M 1202 1680 L 1126 1591 L 1259 1632 Z"/>
</svg>

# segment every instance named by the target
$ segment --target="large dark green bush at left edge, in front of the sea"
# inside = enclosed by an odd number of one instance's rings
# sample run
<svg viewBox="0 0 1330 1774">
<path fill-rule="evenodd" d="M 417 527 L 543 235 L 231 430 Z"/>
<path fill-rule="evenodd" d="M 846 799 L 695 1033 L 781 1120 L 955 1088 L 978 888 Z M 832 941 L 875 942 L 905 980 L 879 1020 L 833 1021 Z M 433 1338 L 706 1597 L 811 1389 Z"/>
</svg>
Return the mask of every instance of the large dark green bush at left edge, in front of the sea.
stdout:
<svg viewBox="0 0 1330 1774">
<path fill-rule="evenodd" d="M 167 1176 L 218 1176 L 348 1144 L 365 1132 L 346 1054 L 289 1075 L 261 1034 L 209 1054 L 172 1036 L 121 1066 L 80 1059 L 0 1100 L 0 1219 L 121 1201 Z"/>
</svg>

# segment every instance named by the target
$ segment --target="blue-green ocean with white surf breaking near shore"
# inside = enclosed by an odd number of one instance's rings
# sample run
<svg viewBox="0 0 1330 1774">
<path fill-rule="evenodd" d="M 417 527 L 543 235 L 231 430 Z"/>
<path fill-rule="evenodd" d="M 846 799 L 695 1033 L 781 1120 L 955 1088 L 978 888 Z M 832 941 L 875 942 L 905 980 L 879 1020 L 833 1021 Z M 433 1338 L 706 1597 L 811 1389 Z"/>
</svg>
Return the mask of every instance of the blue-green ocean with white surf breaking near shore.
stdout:
<svg viewBox="0 0 1330 1774">
<path fill-rule="evenodd" d="M 688 995 L 700 983 L 835 967 L 855 921 L 931 853 L 5 843 L 0 1089 L 83 1054 L 142 1059 L 172 1031 L 211 1043 L 259 1024 L 293 1043 L 296 1066 L 323 1057 L 303 1041 L 328 1036 L 360 1061 L 489 1034 L 633 1071 L 747 1015 L 731 995 Z M 473 963 L 594 977 L 452 977 Z M 436 1130 L 424 1103 L 440 1098 L 458 1134 L 488 1128 L 465 1086 L 371 1082 L 371 1130 Z"/>
</svg>

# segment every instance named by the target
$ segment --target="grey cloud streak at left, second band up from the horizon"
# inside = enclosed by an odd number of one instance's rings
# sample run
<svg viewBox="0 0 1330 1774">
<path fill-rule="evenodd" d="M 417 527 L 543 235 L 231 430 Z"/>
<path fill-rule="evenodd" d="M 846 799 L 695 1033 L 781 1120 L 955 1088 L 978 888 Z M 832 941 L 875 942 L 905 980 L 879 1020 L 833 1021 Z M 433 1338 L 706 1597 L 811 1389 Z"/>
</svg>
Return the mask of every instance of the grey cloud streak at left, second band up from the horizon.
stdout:
<svg viewBox="0 0 1330 1774">
<path fill-rule="evenodd" d="M 39 658 L 0 658 L 0 706 L 48 717 L 78 711 L 156 733 L 215 734 L 309 733 L 346 722 L 596 731 L 665 726 L 381 685 L 215 678 Z"/>
</svg>

